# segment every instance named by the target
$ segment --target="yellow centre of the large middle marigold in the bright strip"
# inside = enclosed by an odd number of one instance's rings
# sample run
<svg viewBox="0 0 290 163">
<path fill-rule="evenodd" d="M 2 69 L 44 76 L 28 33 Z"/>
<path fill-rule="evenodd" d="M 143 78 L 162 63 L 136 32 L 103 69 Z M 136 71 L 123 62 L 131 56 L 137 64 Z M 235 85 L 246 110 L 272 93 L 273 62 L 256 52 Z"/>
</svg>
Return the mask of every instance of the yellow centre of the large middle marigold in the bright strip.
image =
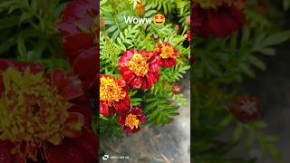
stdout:
<svg viewBox="0 0 290 163">
<path fill-rule="evenodd" d="M 137 76 L 143 77 L 149 71 L 149 63 L 140 53 L 135 53 L 129 62 L 129 69 Z"/>
</svg>

